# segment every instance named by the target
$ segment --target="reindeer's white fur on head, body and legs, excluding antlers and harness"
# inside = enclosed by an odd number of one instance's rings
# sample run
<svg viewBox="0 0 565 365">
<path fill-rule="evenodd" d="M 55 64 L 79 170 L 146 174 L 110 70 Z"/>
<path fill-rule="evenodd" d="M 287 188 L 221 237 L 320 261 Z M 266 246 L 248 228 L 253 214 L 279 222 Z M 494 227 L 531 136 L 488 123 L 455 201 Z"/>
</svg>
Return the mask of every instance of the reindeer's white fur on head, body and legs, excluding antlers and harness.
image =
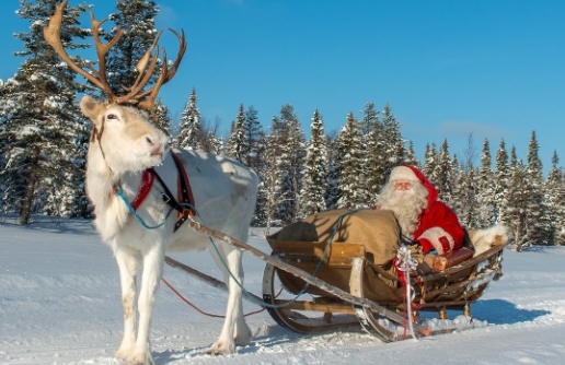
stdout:
<svg viewBox="0 0 565 365">
<path fill-rule="evenodd" d="M 152 166 L 169 189 L 176 192 L 177 174 L 168 138 L 148 121 L 148 114 L 135 107 L 100 104 L 90 96 L 84 96 L 80 106 L 93 123 L 94 136 L 88 153 L 87 191 L 94 205 L 96 229 L 114 251 L 120 274 L 124 338 L 116 357 L 128 364 L 154 364 L 149 331 L 165 250 L 204 249 L 209 239 L 191 229 L 188 224 L 173 233 L 175 214 L 162 227 L 147 229 L 113 193 L 114 187 L 119 187 L 129 201 L 134 200 L 140 187 L 140 172 Z M 256 175 L 221 156 L 196 151 L 176 152 L 186 168 L 203 223 L 245 242 L 255 208 Z M 162 189 L 155 179 L 151 192 L 138 209 L 148 225 L 162 222 L 170 209 L 159 190 Z M 221 242 L 216 245 L 229 270 L 242 283 L 242 252 Z M 216 251 L 211 250 L 211 254 L 219 262 Z M 229 287 L 229 298 L 222 331 L 208 351 L 211 354 L 233 353 L 237 344 L 247 344 L 252 338 L 243 318 L 241 289 L 223 266 L 219 267 Z M 136 275 L 141 269 L 141 285 L 137 293 Z"/>
</svg>

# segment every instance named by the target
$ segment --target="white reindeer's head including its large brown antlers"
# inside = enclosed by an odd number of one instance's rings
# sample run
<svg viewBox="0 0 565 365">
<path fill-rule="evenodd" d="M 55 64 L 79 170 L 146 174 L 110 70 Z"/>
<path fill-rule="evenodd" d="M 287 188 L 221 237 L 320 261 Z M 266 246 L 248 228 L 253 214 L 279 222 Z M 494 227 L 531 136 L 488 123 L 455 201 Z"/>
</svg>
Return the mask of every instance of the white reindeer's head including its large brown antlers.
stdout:
<svg viewBox="0 0 565 365">
<path fill-rule="evenodd" d="M 93 123 L 91 143 L 99 143 L 102 157 L 107 166 L 116 173 L 137 172 L 158 165 L 168 149 L 168 137 L 151 123 L 149 114 L 143 109 L 147 109 L 151 113 L 153 119 L 157 119 L 154 102 L 159 90 L 174 76 L 186 50 L 184 32 L 178 35 L 171 31 L 178 38 L 178 55 L 173 64 L 169 67 L 166 52 L 163 49 L 160 74 L 152 87 L 143 90 L 155 71 L 159 58 L 157 43 L 162 32 L 157 35 L 152 46 L 138 61 L 136 69 L 139 75 L 134 85 L 123 86 L 127 93 L 117 95 L 106 80 L 106 54 L 119 40 L 124 31 L 118 28 L 116 36 L 107 44 L 103 44 L 100 40 L 100 26 L 105 20 L 96 21 L 91 11 L 99 70 L 87 64 L 89 68 L 89 71 L 87 71 L 69 57 L 61 43 L 60 27 L 67 2 L 68 0 L 65 0 L 56 5 L 56 12 L 49 19 L 49 25 L 44 30 L 44 37 L 73 71 L 96 85 L 107 97 L 105 103 L 97 103 L 94 98 L 84 96 L 80 103 L 82 113 Z M 152 55 L 155 47 L 157 50 Z"/>
</svg>

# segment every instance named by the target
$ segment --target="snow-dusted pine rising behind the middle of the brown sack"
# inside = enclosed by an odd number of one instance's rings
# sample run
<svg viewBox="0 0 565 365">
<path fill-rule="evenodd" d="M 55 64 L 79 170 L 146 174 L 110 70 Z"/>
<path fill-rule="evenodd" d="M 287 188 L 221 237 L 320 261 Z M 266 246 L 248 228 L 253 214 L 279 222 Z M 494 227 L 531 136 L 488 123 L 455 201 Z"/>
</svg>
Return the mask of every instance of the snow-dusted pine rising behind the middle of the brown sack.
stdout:
<svg viewBox="0 0 565 365">
<path fill-rule="evenodd" d="M 338 208 L 367 208 L 368 198 L 365 190 L 364 153 L 359 123 L 353 113 L 347 115 L 347 122 L 337 137 L 339 154 L 338 176 L 341 198 Z"/>
</svg>

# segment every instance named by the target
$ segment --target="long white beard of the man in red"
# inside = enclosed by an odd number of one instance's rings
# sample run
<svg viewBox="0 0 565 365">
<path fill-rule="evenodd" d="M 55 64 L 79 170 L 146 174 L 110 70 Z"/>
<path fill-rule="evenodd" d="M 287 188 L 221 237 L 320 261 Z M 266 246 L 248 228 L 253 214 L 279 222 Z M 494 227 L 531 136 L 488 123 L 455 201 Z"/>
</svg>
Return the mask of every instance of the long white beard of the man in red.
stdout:
<svg viewBox="0 0 565 365">
<path fill-rule="evenodd" d="M 419 190 L 419 189 L 418 189 Z M 426 191 L 424 189 L 424 191 Z M 427 205 L 427 195 L 418 193 L 413 189 L 393 190 L 389 195 L 381 196 L 380 209 L 388 209 L 395 213 L 402 234 L 414 239 L 414 233 L 418 228 L 422 210 Z"/>
</svg>

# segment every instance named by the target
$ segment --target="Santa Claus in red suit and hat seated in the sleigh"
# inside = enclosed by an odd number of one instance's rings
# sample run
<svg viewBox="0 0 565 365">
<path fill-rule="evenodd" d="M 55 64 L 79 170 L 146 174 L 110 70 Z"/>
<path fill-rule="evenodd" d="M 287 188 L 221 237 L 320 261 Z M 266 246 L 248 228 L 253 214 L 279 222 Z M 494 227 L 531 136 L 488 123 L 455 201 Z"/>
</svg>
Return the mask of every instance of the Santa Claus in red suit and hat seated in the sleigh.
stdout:
<svg viewBox="0 0 565 365">
<path fill-rule="evenodd" d="M 463 243 L 456 213 L 438 200 L 437 189 L 414 166 L 392 170 L 376 209 L 392 210 L 404 239 L 420 245 L 425 254 L 449 255 Z"/>
</svg>

